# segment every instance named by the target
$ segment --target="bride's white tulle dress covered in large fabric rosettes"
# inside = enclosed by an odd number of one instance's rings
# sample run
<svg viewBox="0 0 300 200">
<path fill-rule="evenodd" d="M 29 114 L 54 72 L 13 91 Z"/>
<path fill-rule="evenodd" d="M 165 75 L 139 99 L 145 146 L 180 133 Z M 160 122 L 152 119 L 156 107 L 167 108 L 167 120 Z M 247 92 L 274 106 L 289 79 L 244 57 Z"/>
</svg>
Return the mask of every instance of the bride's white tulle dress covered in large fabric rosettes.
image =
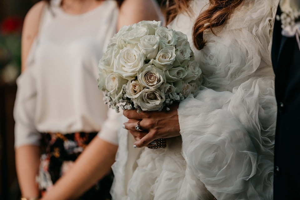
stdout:
<svg viewBox="0 0 300 200">
<path fill-rule="evenodd" d="M 180 14 L 169 25 L 191 45 L 194 20 L 208 2 L 192 1 L 193 17 Z M 134 149 L 131 134 L 119 131 L 114 200 L 272 199 L 277 5 L 246 0 L 217 36 L 205 32 L 202 50 L 192 47 L 204 83 L 179 105 L 181 137 L 168 138 L 165 149 Z"/>
</svg>

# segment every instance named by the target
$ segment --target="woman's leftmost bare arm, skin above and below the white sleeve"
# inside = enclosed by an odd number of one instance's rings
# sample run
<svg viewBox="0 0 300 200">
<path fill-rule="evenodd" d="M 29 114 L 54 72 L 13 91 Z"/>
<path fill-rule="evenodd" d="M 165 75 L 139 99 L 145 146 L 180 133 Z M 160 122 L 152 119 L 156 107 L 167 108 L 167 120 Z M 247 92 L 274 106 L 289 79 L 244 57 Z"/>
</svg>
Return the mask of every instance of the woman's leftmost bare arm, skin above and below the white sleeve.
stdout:
<svg viewBox="0 0 300 200">
<path fill-rule="evenodd" d="M 39 18 L 45 2 L 35 4 L 27 13 L 22 30 L 22 72 L 26 69 L 26 60 L 32 42 L 38 32 Z M 17 177 L 23 197 L 38 197 L 39 190 L 35 181 L 40 163 L 39 147 L 35 145 L 20 146 L 16 151 Z"/>
</svg>

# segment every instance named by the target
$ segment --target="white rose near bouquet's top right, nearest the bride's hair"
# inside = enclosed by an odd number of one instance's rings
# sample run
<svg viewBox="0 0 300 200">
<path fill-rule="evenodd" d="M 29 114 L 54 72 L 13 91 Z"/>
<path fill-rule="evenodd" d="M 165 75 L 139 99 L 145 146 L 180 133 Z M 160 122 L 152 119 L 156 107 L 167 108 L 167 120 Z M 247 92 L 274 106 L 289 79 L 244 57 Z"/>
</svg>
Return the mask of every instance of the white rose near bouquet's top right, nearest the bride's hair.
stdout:
<svg viewBox="0 0 300 200">
<path fill-rule="evenodd" d="M 161 48 L 174 46 L 178 40 L 178 37 L 175 35 L 174 31 L 166 27 L 157 27 L 155 35 L 160 38 Z"/>
</svg>

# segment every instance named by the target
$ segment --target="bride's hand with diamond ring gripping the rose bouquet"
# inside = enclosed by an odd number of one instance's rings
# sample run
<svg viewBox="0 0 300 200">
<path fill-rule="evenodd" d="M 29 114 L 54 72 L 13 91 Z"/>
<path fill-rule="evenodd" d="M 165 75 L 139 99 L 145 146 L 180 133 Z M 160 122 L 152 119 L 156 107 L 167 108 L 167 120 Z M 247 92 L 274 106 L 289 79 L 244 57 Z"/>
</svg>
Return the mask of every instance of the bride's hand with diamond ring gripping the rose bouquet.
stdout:
<svg viewBox="0 0 300 200">
<path fill-rule="evenodd" d="M 166 111 L 146 111 L 137 113 L 135 110 L 124 110 L 123 114 L 129 119 L 124 123 L 125 128 L 130 131 L 135 140 L 134 145 L 138 148 L 153 146 L 150 143 L 159 138 L 172 138 L 180 135 L 178 122 L 178 104 L 169 106 Z M 143 131 L 137 131 L 135 126 L 140 121 Z M 148 133 L 147 133 L 148 131 Z"/>
</svg>

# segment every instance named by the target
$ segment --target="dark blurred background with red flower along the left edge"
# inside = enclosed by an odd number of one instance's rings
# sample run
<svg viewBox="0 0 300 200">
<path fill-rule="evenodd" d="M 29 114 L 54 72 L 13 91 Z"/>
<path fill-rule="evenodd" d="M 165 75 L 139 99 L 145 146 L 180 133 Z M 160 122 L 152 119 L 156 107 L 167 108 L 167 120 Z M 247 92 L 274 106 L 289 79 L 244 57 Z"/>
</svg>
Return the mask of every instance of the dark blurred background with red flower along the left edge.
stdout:
<svg viewBox="0 0 300 200">
<path fill-rule="evenodd" d="M 27 11 L 38 1 L 0 0 L 0 200 L 17 200 L 20 197 L 14 160 L 12 111 L 16 78 L 21 71 L 22 24 Z"/>
</svg>

